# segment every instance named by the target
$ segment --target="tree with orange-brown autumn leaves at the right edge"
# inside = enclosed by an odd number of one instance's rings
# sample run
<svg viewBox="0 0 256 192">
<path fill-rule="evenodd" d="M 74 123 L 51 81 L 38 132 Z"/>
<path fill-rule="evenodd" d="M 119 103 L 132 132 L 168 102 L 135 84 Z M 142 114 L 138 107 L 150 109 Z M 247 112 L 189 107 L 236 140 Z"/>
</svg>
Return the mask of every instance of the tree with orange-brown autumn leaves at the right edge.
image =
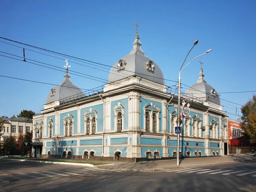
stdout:
<svg viewBox="0 0 256 192">
<path fill-rule="evenodd" d="M 256 143 L 256 95 L 241 107 L 241 112 L 241 128 L 244 129 L 244 135 L 249 137 L 250 143 Z"/>
</svg>

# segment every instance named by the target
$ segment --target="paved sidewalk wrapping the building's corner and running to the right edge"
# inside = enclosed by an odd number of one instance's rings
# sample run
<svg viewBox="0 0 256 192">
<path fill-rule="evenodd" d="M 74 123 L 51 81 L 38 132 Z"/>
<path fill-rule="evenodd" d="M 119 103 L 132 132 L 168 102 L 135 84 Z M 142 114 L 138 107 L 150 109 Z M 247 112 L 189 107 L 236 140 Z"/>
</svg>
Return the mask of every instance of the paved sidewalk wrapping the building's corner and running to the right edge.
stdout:
<svg viewBox="0 0 256 192">
<path fill-rule="evenodd" d="M 119 170 L 119 171 L 168 171 L 175 170 L 177 168 L 189 168 L 197 166 L 207 166 L 214 164 L 222 163 L 233 163 L 245 160 L 256 160 L 256 157 L 253 155 L 244 154 L 244 155 L 230 155 L 230 156 L 221 156 L 221 157 L 207 157 L 207 158 L 185 158 L 180 159 L 180 166 L 177 166 L 177 159 L 172 160 L 153 160 L 153 161 L 144 161 L 138 163 L 123 163 L 123 162 L 113 162 L 114 165 L 103 166 L 104 169 L 109 170 Z M 102 167 L 102 168 L 103 168 Z"/>
</svg>

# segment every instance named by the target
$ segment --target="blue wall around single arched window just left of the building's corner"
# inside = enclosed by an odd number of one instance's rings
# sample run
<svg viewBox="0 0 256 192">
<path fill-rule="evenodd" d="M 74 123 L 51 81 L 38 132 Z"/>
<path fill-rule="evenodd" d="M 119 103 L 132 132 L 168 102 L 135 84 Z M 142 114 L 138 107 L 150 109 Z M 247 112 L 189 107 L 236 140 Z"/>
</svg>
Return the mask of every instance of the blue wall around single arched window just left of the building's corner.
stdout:
<svg viewBox="0 0 256 192">
<path fill-rule="evenodd" d="M 111 101 L 111 130 L 115 130 L 115 121 L 114 121 L 114 107 L 117 105 L 117 102 L 121 102 L 121 105 L 124 109 L 124 122 L 122 122 L 122 129 L 128 129 L 128 98 L 119 99 L 115 101 Z"/>
</svg>

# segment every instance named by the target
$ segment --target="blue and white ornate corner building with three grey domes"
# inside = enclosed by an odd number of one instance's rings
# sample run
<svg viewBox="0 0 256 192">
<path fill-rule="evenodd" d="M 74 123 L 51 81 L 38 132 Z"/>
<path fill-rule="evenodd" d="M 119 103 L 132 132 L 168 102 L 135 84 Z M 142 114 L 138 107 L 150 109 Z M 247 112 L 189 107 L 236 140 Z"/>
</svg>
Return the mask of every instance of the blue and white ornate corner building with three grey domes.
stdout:
<svg viewBox="0 0 256 192">
<path fill-rule="evenodd" d="M 177 155 L 175 126 L 182 109 L 141 45 L 137 34 L 134 48 L 113 65 L 102 89 L 82 92 L 70 81 L 67 68 L 63 82 L 50 90 L 44 110 L 33 117 L 34 157 L 134 161 Z M 202 67 L 198 76 L 181 95 L 181 103 L 189 101 L 190 106 L 182 119 L 179 154 L 227 154 L 228 117 Z"/>
</svg>

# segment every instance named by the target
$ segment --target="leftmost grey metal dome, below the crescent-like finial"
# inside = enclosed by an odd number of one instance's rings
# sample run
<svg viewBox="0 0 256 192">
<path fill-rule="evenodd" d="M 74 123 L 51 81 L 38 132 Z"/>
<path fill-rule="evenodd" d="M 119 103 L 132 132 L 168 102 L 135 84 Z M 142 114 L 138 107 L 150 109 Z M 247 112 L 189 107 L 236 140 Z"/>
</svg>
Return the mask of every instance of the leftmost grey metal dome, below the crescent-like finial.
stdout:
<svg viewBox="0 0 256 192">
<path fill-rule="evenodd" d="M 66 74 L 64 75 L 64 80 L 58 86 L 55 86 L 47 95 L 46 103 L 52 103 L 57 100 L 61 100 L 66 97 L 70 97 L 77 94 L 83 94 L 82 90 L 77 86 L 73 85 L 70 80 L 70 75 L 68 74 L 68 70 L 66 70 Z"/>
</svg>

